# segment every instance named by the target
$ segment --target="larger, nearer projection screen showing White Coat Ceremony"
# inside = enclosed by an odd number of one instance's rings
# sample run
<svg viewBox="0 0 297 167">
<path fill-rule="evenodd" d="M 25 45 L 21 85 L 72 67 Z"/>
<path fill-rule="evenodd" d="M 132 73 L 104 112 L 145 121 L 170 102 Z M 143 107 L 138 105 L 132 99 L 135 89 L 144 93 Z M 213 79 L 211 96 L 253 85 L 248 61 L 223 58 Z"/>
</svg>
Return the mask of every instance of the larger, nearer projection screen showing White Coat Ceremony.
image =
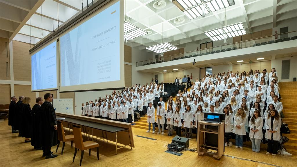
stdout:
<svg viewBox="0 0 297 167">
<path fill-rule="evenodd" d="M 110 1 L 60 35 L 60 92 L 125 86 L 123 11 Z"/>
</svg>

